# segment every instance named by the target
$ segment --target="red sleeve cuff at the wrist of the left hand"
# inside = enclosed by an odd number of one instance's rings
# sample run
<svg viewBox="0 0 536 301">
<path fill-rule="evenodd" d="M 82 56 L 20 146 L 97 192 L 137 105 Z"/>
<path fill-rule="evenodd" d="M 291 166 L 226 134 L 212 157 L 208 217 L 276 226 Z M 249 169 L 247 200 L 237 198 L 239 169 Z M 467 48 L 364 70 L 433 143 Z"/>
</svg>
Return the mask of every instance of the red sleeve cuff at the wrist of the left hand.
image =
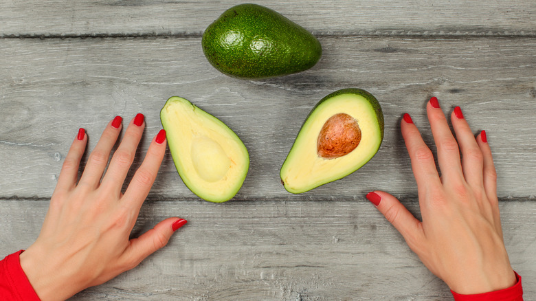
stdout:
<svg viewBox="0 0 536 301">
<path fill-rule="evenodd" d="M 19 261 L 23 250 L 0 261 L 0 299 L 4 301 L 41 301 L 24 274 Z"/>
</svg>

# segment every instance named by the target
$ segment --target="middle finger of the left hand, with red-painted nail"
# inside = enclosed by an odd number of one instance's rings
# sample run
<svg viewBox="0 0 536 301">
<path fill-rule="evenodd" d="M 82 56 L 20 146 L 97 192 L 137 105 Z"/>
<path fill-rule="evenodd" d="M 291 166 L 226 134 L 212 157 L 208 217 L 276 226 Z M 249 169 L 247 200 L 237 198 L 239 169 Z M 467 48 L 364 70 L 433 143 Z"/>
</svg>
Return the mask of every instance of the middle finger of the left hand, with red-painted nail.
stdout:
<svg viewBox="0 0 536 301">
<path fill-rule="evenodd" d="M 102 178 L 103 188 L 109 188 L 114 190 L 116 194 L 120 194 L 124 179 L 134 161 L 139 140 L 142 139 L 144 125 L 144 115 L 141 113 L 131 120 L 118 149 L 113 153 L 106 174 Z"/>
</svg>

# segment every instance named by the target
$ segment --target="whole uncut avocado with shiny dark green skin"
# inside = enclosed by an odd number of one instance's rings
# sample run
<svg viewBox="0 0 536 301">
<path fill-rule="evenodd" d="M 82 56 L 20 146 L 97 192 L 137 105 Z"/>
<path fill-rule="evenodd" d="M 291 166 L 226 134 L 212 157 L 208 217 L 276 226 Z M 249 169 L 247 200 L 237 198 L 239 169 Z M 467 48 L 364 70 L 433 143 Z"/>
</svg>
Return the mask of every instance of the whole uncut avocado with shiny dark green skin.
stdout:
<svg viewBox="0 0 536 301">
<path fill-rule="evenodd" d="M 234 78 L 260 79 L 313 67 L 320 42 L 300 25 L 256 4 L 236 5 L 203 33 L 203 53 L 212 66 Z"/>
</svg>

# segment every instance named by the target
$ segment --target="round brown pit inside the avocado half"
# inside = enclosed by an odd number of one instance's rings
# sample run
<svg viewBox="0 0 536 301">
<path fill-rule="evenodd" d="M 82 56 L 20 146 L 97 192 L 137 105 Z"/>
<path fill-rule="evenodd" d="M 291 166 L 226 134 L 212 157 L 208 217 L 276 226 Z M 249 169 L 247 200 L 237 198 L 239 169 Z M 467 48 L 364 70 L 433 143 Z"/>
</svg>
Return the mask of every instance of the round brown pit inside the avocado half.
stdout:
<svg viewBox="0 0 536 301">
<path fill-rule="evenodd" d="M 357 120 L 346 113 L 337 113 L 329 118 L 317 140 L 317 154 L 324 159 L 348 155 L 361 142 L 361 129 Z"/>
</svg>

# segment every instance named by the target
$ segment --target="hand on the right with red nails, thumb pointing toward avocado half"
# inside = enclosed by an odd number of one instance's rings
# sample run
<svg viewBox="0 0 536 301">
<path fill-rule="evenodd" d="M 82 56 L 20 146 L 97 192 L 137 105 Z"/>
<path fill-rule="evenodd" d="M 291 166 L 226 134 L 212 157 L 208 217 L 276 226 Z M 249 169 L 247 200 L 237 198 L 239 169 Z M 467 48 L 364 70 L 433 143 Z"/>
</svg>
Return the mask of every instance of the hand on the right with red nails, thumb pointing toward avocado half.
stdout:
<svg viewBox="0 0 536 301">
<path fill-rule="evenodd" d="M 502 238 L 496 173 L 486 133 L 475 138 L 456 107 L 451 113 L 455 139 L 435 97 L 427 104 L 427 114 L 441 175 L 410 115 L 401 121 L 423 221 L 386 192 L 370 192 L 367 199 L 451 290 L 474 294 L 511 287 L 516 278 Z"/>
</svg>

